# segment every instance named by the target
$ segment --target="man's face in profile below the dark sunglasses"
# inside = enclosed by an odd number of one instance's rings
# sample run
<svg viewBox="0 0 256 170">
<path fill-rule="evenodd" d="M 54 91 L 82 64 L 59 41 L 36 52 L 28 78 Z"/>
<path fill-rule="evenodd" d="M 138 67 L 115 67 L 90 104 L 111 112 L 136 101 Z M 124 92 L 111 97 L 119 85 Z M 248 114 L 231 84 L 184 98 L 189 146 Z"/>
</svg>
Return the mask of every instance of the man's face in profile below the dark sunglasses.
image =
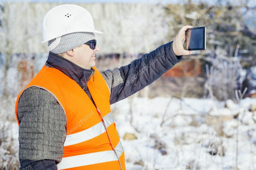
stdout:
<svg viewBox="0 0 256 170">
<path fill-rule="evenodd" d="M 93 50 L 89 45 L 83 44 L 82 47 L 77 47 L 75 51 L 76 64 L 85 69 L 91 69 L 95 66 L 95 52 L 99 51 L 100 48 L 96 45 Z"/>
</svg>

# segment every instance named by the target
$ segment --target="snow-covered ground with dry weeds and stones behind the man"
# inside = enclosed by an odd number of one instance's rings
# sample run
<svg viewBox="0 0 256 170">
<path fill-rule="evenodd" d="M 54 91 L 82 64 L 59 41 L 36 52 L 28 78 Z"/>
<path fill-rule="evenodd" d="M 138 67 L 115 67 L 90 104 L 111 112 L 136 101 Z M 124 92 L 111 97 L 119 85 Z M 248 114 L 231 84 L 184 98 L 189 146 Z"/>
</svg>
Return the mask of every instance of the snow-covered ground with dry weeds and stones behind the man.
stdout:
<svg viewBox="0 0 256 170">
<path fill-rule="evenodd" d="M 256 169 L 255 103 L 256 99 L 246 98 L 239 107 L 227 100 L 225 108 L 224 102 L 211 99 L 131 96 L 111 105 L 126 169 L 235 169 L 236 155 L 239 169 Z M 12 130 L 1 135 L 13 136 L 10 145 L 18 153 L 17 123 L 7 129 Z"/>
</svg>

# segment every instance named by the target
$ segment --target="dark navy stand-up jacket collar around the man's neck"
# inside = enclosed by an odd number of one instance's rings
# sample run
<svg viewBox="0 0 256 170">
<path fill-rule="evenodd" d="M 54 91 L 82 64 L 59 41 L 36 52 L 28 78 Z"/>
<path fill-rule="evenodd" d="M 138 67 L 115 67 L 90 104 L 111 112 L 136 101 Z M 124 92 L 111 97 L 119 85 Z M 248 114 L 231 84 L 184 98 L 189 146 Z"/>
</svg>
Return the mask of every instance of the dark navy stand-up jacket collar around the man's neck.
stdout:
<svg viewBox="0 0 256 170">
<path fill-rule="evenodd" d="M 77 82 L 81 88 L 84 88 L 86 82 L 94 72 L 94 69 L 84 69 L 75 63 L 63 58 L 57 54 L 49 52 L 46 66 L 56 68 Z"/>
</svg>

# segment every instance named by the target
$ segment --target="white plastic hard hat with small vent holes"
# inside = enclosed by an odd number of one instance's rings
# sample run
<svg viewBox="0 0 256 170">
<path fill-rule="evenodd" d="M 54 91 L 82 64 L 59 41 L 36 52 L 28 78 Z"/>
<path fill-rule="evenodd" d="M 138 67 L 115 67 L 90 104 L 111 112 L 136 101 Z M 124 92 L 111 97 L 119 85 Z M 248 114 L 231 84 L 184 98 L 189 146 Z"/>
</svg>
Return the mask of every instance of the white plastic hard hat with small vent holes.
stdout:
<svg viewBox="0 0 256 170">
<path fill-rule="evenodd" d="M 94 29 L 91 14 L 85 8 L 73 4 L 59 5 L 47 12 L 43 25 L 43 41 L 45 43 L 56 38 L 52 43 L 56 47 L 62 35 L 74 32 L 94 32 L 103 33 Z"/>
</svg>

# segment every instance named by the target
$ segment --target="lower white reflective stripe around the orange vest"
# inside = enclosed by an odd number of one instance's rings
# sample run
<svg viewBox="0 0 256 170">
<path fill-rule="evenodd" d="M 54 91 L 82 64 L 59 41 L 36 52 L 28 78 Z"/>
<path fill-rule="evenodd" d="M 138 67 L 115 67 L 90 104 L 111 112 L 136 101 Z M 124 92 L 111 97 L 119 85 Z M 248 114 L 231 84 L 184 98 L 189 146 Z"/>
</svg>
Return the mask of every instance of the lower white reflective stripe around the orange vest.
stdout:
<svg viewBox="0 0 256 170">
<path fill-rule="evenodd" d="M 118 153 L 118 157 L 120 157 L 124 151 L 121 141 L 118 142 L 118 145 L 115 147 L 115 150 Z M 116 154 L 113 150 L 62 158 L 62 161 L 57 166 L 58 169 L 67 169 L 109 161 L 118 161 L 118 158 L 116 157 Z"/>
</svg>

